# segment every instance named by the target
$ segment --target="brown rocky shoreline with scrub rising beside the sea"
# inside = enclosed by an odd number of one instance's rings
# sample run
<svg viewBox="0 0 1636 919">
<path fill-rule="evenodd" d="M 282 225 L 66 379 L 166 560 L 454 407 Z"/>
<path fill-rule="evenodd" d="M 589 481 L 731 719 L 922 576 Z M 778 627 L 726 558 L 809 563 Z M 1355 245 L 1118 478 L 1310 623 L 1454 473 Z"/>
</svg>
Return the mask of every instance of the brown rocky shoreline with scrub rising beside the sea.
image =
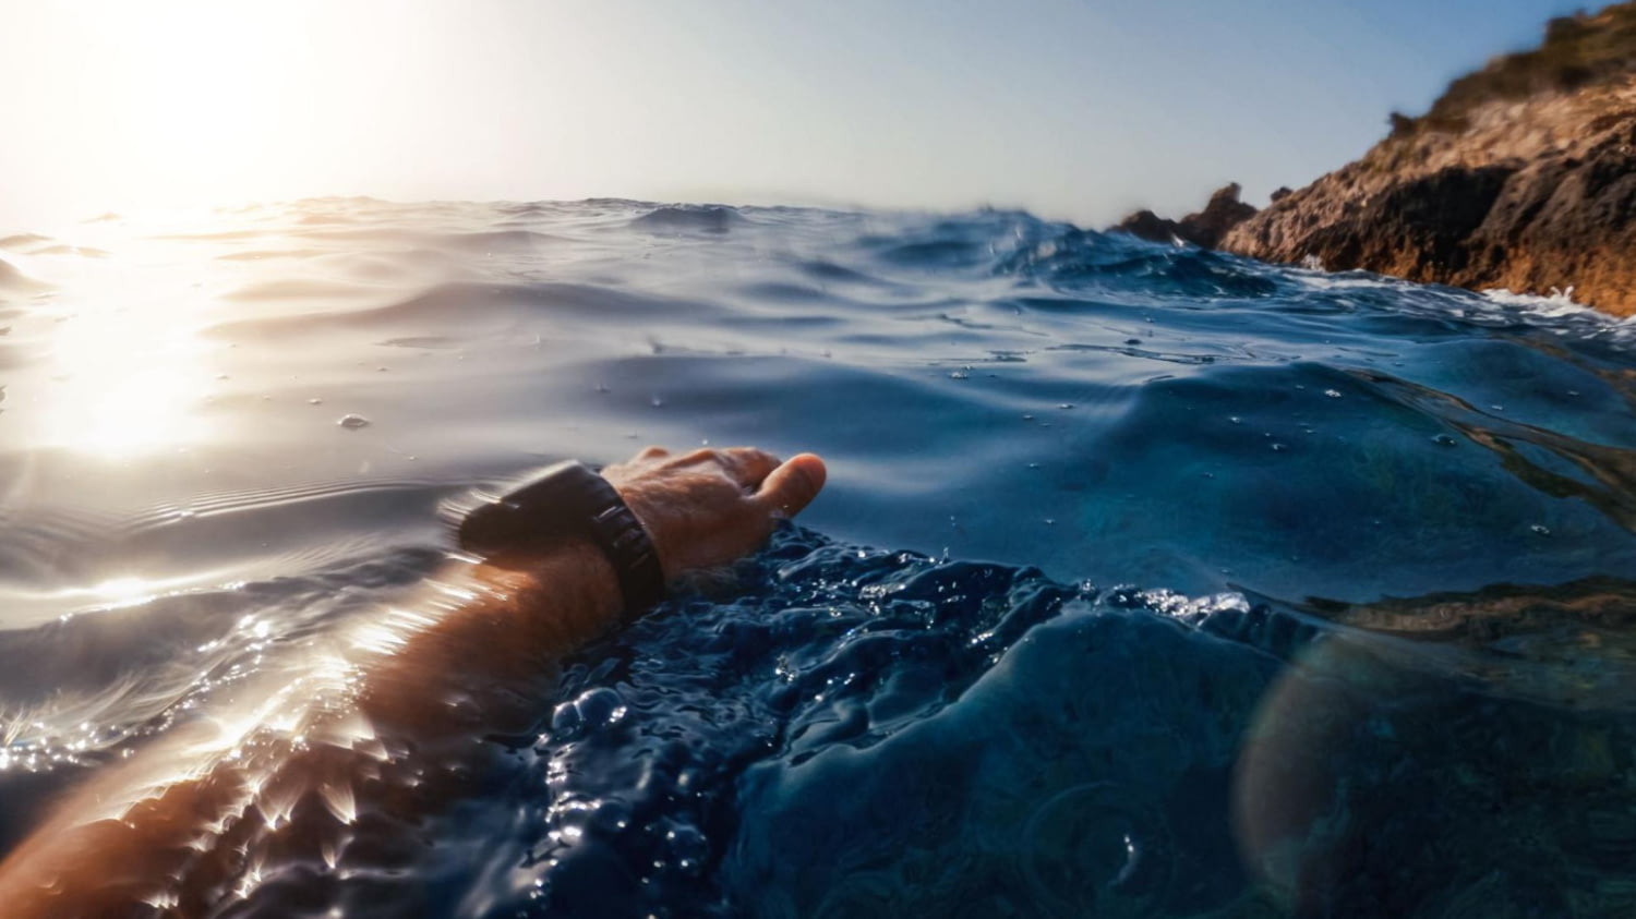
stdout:
<svg viewBox="0 0 1636 919">
<path fill-rule="evenodd" d="M 1636 314 L 1636 2 L 1553 20 L 1361 159 L 1265 209 L 1238 186 L 1181 221 L 1116 231 L 1266 262 L 1517 293 Z"/>
</svg>

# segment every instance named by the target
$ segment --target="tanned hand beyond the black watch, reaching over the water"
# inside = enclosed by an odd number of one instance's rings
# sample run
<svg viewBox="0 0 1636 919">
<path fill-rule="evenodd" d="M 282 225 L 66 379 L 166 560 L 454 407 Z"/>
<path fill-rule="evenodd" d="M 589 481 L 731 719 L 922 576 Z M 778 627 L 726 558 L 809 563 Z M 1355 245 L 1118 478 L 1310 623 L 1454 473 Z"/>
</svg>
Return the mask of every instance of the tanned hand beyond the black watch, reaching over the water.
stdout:
<svg viewBox="0 0 1636 919">
<path fill-rule="evenodd" d="M 825 474 L 811 453 L 779 463 L 751 446 L 676 456 L 649 446 L 602 469 L 648 528 L 666 579 L 754 551 L 777 518 L 811 504 Z"/>
</svg>

